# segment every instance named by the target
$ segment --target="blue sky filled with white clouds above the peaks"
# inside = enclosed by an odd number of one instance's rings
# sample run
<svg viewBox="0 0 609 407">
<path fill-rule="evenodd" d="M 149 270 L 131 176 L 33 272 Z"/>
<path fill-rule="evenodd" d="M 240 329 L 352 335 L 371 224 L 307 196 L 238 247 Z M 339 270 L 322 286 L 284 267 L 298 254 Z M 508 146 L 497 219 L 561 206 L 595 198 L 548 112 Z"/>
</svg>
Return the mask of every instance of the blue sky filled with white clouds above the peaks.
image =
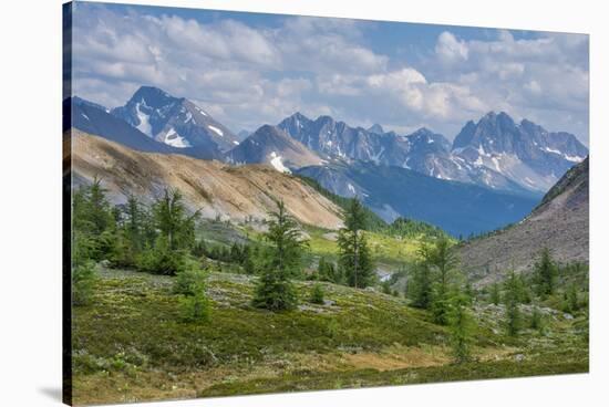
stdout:
<svg viewBox="0 0 609 407">
<path fill-rule="evenodd" d="M 453 138 L 488 111 L 588 145 L 588 36 L 75 3 L 74 94 L 109 107 L 143 85 L 234 132 L 299 111 Z"/>
</svg>

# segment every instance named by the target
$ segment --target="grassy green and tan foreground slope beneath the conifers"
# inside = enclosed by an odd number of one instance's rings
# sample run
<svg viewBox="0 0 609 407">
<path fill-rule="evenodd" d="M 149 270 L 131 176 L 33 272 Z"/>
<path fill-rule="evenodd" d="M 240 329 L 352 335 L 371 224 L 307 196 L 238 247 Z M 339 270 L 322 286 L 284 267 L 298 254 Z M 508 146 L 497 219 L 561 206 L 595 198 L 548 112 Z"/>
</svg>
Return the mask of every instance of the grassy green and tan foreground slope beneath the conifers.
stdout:
<svg viewBox="0 0 609 407">
<path fill-rule="evenodd" d="M 475 354 L 450 365 L 447 331 L 403 299 L 324 284 L 331 305 L 270 313 L 249 306 L 251 278 L 213 273 L 209 323 L 180 322 L 172 278 L 103 271 L 94 302 L 74 309 L 76 404 L 443 382 L 588 369 L 578 321 L 507 340 L 479 314 Z M 388 317 L 391 315 L 391 317 Z M 526 355 L 515 362 L 515 354 Z"/>
</svg>

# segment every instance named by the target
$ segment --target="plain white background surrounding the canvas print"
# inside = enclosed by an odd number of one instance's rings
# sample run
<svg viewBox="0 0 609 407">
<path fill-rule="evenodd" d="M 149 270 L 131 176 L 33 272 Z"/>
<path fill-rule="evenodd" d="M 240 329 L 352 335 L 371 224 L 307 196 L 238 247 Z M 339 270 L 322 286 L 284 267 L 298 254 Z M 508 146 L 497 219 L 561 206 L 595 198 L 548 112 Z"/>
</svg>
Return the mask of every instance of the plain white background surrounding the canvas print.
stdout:
<svg viewBox="0 0 609 407">
<path fill-rule="evenodd" d="M 589 375 L 163 403 L 162 406 L 595 406 L 607 400 L 609 23 L 602 1 L 142 0 L 126 3 L 589 33 Z M 61 388 L 61 1 L 0 11 L 0 405 L 56 406 Z M 605 206 L 603 206 L 605 202 Z M 605 210 L 603 210 L 605 209 Z M 603 250 L 605 249 L 605 250 Z M 149 406 L 153 404 L 142 404 Z"/>
</svg>

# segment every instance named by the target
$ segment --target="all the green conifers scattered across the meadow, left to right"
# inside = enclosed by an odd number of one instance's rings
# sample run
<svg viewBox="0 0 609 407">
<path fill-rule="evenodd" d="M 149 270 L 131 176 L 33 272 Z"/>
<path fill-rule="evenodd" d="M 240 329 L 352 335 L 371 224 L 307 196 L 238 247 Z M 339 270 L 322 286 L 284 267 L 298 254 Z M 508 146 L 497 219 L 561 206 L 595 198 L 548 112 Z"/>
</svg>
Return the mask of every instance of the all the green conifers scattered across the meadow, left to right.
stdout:
<svg viewBox="0 0 609 407">
<path fill-rule="evenodd" d="M 293 310 L 299 303 L 295 279 L 303 279 L 308 240 L 298 221 L 282 201 L 268 213 L 268 229 L 258 242 L 230 247 L 209 246 L 196 239 L 199 211 L 189 211 L 178 190 L 165 189 L 151 205 L 130 196 L 123 205 L 112 205 L 100 179 L 79 188 L 72 201 L 72 282 L 73 303 L 87 304 L 95 286 L 95 263 L 106 261 L 113 268 L 176 275 L 174 293 L 179 295 L 185 321 L 207 321 L 210 300 L 206 293 L 208 261 L 236 264 L 242 272 L 258 275 L 251 305 L 273 312 Z M 363 289 L 378 283 L 375 264 L 368 244 L 369 210 L 353 198 L 344 210 L 344 226 L 338 232 L 338 259 L 321 258 L 314 279 Z M 401 221 L 396 232 L 412 225 Z M 455 362 L 471 361 L 471 343 L 476 331 L 472 306 L 476 293 L 460 271 L 453 241 L 440 233 L 419 248 L 419 260 L 409 272 L 405 296 L 410 304 L 427 310 L 433 321 L 447 325 Z M 523 327 L 520 305 L 534 296 L 556 293 L 558 267 L 548 250 L 535 263 L 533 281 L 509 273 L 502 283 L 486 290 L 489 302 L 505 305 L 506 334 L 516 336 Z M 534 286 L 533 292 L 530 286 Z M 383 292 L 394 293 L 390 284 Z M 321 284 L 314 284 L 309 298 L 324 302 Z M 565 310 L 576 311 L 580 299 L 575 285 L 564 293 Z M 538 307 L 530 326 L 543 328 Z"/>
</svg>

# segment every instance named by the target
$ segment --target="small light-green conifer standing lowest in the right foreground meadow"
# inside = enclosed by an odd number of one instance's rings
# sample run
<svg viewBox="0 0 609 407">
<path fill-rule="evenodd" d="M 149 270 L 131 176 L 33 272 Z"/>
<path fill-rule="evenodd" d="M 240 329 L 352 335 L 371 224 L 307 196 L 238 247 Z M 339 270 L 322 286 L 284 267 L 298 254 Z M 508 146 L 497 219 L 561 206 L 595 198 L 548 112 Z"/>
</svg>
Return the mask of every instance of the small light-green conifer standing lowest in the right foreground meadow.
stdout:
<svg viewBox="0 0 609 407">
<path fill-rule="evenodd" d="M 472 359 L 471 342 L 474 322 L 468 310 L 469 301 L 465 294 L 455 295 L 448 313 L 453 358 L 458 364 Z"/>
</svg>

